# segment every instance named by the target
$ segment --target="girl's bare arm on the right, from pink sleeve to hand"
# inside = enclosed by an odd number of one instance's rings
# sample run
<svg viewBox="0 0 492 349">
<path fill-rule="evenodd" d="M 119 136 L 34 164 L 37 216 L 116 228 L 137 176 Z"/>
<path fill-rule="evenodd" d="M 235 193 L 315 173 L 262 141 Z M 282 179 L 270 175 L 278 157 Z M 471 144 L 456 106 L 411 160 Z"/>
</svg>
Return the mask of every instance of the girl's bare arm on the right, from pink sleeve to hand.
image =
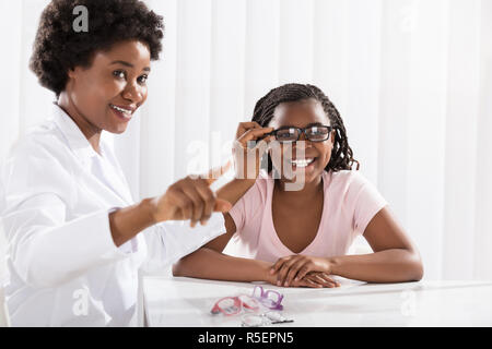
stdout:
<svg viewBox="0 0 492 349">
<path fill-rule="evenodd" d="M 415 245 L 385 207 L 377 213 L 364 231 L 374 253 L 329 258 L 288 256 L 272 267 L 282 285 L 291 285 L 311 272 L 324 272 L 367 282 L 418 281 L 423 265 Z"/>
</svg>

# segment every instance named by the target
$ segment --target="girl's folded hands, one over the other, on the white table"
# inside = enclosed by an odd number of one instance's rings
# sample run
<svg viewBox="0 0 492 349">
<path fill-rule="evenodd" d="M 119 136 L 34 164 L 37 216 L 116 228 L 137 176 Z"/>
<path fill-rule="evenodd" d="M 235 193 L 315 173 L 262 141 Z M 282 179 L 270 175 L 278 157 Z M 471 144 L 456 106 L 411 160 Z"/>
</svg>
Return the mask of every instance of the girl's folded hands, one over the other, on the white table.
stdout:
<svg viewBox="0 0 492 349">
<path fill-rule="evenodd" d="M 276 264 L 270 269 L 272 276 L 277 276 L 278 286 L 291 286 L 293 282 L 298 282 L 304 280 L 307 276 L 307 280 L 315 281 L 318 279 L 318 274 L 316 277 L 309 276 L 309 274 L 318 272 L 325 275 L 331 274 L 331 264 L 327 258 L 313 257 L 306 255 L 290 255 L 279 258 Z M 339 286 L 339 284 L 328 276 L 329 282 L 333 286 Z"/>
</svg>

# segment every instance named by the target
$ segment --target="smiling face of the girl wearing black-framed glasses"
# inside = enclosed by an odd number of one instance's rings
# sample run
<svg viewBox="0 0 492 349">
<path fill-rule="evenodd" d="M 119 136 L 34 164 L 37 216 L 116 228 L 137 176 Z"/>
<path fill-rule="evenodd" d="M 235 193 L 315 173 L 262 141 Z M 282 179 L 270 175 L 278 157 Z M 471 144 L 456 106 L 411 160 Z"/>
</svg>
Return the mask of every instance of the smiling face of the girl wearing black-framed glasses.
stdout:
<svg viewBox="0 0 492 349">
<path fill-rule="evenodd" d="M 325 113 L 321 104 L 314 98 L 280 104 L 277 106 L 273 119 L 269 123 L 269 127 L 276 130 L 282 127 L 305 129 L 312 125 L 330 125 L 330 120 Z M 320 178 L 325 167 L 330 161 L 333 140 L 333 131 L 330 133 L 328 140 L 324 142 L 307 141 L 305 135 L 302 134 L 300 141 L 294 142 L 292 146 L 281 145 L 282 156 L 280 164 L 278 164 L 279 159 L 276 159 L 274 155 L 272 156 L 272 154 L 270 154 L 270 158 L 272 159 L 274 168 L 281 169 L 282 164 L 284 164 L 283 169 L 286 169 L 288 172 L 292 171 L 295 176 L 295 172 L 298 171 L 298 169 L 295 164 L 291 164 L 290 159 L 296 160 L 297 147 L 301 146 L 304 152 L 300 149 L 298 153 L 304 153 L 304 158 L 307 161 L 313 159 L 308 166 L 304 167 L 304 182 L 312 183 Z M 286 152 L 291 152 L 291 154 L 286 154 Z M 292 179 L 290 179 L 290 176 L 285 177 L 283 171 L 280 171 L 280 173 L 283 181 L 292 182 L 296 180 L 295 177 Z"/>
</svg>

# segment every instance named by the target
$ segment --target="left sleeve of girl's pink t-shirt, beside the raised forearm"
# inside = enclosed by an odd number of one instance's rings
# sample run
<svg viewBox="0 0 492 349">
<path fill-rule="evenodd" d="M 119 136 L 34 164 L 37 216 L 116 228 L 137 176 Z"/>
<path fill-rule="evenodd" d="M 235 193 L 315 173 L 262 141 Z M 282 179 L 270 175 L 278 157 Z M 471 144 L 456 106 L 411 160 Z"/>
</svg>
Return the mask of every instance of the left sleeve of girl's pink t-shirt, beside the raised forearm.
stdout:
<svg viewBox="0 0 492 349">
<path fill-rule="evenodd" d="M 237 203 L 229 210 L 234 224 L 236 232 L 243 230 L 245 224 L 256 216 L 263 205 L 263 195 L 261 194 L 261 184 L 265 180 L 258 179 L 255 184 L 237 201 Z"/>
</svg>

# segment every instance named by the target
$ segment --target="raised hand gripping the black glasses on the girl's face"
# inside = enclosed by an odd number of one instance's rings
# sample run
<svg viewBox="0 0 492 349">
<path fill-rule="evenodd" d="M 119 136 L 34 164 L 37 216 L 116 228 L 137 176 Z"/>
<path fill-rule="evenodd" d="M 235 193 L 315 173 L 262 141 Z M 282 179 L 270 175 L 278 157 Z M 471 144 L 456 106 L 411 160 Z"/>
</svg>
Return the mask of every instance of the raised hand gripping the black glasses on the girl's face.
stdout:
<svg viewBox="0 0 492 349">
<path fill-rule="evenodd" d="M 239 123 L 236 141 L 234 141 L 233 145 L 236 178 L 256 180 L 259 174 L 261 157 L 267 151 L 267 144 L 272 140 L 272 136 L 266 136 L 254 147 L 248 147 L 248 142 L 257 141 L 272 131 L 273 128 L 261 128 L 255 121 Z"/>
</svg>

